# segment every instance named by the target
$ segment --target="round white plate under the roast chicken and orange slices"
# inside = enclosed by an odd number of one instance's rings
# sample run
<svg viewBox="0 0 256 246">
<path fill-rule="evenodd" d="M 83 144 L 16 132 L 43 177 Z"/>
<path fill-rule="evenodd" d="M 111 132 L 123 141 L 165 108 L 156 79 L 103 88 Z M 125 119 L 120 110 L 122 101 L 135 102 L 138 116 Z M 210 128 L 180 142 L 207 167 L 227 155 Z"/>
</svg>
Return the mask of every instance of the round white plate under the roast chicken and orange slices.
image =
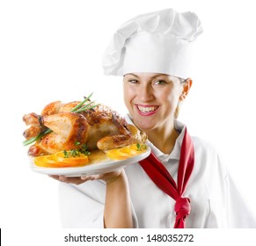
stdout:
<svg viewBox="0 0 256 246">
<path fill-rule="evenodd" d="M 105 160 L 100 161 L 98 163 L 90 162 L 83 167 L 74 167 L 74 168 L 43 168 L 35 165 L 33 163 L 33 158 L 30 158 L 30 163 L 31 163 L 31 169 L 40 174 L 81 177 L 83 175 L 100 174 L 100 173 L 110 172 L 113 170 L 119 170 L 130 164 L 137 163 L 147 158 L 148 156 L 150 156 L 150 151 L 151 151 L 150 147 L 148 147 L 148 149 L 145 152 L 143 152 L 141 155 L 132 156 L 126 160 L 114 161 L 112 159 L 106 158 Z"/>
</svg>

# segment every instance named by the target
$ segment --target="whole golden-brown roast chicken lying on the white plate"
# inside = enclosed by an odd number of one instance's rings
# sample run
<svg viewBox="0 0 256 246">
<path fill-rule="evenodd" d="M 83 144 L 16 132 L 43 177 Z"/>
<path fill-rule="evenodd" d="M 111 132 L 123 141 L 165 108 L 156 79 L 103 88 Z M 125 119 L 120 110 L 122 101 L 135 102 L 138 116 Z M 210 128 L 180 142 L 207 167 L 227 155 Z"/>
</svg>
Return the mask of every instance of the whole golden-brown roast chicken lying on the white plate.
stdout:
<svg viewBox="0 0 256 246">
<path fill-rule="evenodd" d="M 79 103 L 55 101 L 46 105 L 40 115 L 34 112 L 24 115 L 23 120 L 29 126 L 23 134 L 26 140 L 48 128 L 52 130 L 30 146 L 29 156 L 75 149 L 77 142 L 85 144 L 89 150 L 108 150 L 146 141 L 145 133 L 128 125 L 106 105 L 97 105 L 84 112 L 70 112 Z"/>
</svg>

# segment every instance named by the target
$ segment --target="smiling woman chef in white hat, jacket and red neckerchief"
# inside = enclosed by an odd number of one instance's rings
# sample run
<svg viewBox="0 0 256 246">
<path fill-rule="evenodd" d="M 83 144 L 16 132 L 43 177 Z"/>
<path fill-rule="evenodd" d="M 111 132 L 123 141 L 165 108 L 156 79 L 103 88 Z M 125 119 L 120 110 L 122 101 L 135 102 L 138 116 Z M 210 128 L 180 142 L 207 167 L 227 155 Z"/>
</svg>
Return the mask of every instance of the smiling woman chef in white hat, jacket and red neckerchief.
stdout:
<svg viewBox="0 0 256 246">
<path fill-rule="evenodd" d="M 114 33 L 103 68 L 123 76 L 127 121 L 148 135 L 152 153 L 124 170 L 55 176 L 64 228 L 256 227 L 216 150 L 177 120 L 201 33 L 193 12 L 172 9 L 133 18 Z"/>
</svg>

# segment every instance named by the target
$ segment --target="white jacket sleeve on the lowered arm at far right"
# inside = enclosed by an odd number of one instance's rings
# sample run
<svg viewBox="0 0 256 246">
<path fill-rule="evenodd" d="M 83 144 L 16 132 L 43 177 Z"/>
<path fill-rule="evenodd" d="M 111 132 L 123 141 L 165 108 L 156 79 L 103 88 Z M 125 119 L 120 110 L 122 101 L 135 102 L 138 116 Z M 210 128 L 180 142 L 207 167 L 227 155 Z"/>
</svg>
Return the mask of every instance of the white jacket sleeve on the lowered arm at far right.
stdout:
<svg viewBox="0 0 256 246">
<path fill-rule="evenodd" d="M 256 228 L 255 213 L 219 156 L 210 156 L 206 186 L 210 213 L 205 228 Z M 254 213 L 254 214 L 253 214 Z"/>
</svg>

